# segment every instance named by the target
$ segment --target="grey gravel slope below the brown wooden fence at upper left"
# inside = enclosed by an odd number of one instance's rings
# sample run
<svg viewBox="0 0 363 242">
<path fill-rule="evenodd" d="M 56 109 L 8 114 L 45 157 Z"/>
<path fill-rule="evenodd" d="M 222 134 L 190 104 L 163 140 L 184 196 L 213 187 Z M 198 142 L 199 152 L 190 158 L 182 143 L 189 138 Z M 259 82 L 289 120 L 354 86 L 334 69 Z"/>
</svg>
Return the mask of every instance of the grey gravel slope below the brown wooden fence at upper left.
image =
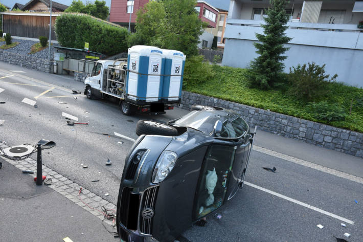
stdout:
<svg viewBox="0 0 363 242">
<path fill-rule="evenodd" d="M 28 54 L 30 52 L 30 48 L 32 47 L 32 45 L 34 45 L 34 43 L 37 43 L 39 41 L 32 41 L 32 40 L 22 40 L 22 39 L 12 39 L 13 42 L 19 42 L 19 45 L 17 45 L 14 48 L 10 48 L 7 50 L 0 50 L 0 51 L 7 51 L 7 52 L 12 52 L 12 53 L 17 53 L 20 55 L 28 55 L 31 57 L 35 57 L 35 58 L 39 58 L 39 59 L 43 59 L 43 60 L 48 60 L 48 53 L 49 53 L 49 49 L 44 49 L 42 51 L 39 51 L 37 53 L 34 54 Z M 0 42 L 0 46 L 5 45 L 5 41 Z M 53 46 L 60 46 L 57 43 L 53 43 Z M 51 60 L 54 59 L 54 48 L 53 46 L 51 47 Z"/>
</svg>

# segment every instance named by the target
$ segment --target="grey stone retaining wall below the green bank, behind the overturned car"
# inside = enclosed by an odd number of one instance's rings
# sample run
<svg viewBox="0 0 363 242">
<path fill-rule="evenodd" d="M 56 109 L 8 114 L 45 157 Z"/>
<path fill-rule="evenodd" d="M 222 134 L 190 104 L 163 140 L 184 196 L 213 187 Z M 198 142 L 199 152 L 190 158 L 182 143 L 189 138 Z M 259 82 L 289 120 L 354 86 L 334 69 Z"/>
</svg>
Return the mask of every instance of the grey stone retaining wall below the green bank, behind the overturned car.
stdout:
<svg viewBox="0 0 363 242">
<path fill-rule="evenodd" d="M 361 133 L 183 91 L 180 106 L 190 109 L 193 104 L 232 109 L 249 125 L 258 125 L 259 129 L 363 158 Z"/>
</svg>

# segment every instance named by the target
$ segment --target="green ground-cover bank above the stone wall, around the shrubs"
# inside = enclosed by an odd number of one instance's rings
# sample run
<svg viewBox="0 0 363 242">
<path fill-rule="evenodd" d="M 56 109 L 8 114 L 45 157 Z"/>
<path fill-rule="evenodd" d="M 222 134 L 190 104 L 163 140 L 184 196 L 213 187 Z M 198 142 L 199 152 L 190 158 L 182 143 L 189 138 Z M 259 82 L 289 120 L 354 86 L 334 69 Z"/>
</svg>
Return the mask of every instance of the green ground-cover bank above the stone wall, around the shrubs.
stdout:
<svg viewBox="0 0 363 242">
<path fill-rule="evenodd" d="M 348 115 L 345 121 L 328 122 L 313 118 L 314 115 L 306 104 L 282 91 L 248 88 L 244 77 L 245 69 L 213 65 L 213 72 L 214 77 L 211 80 L 198 85 L 186 83 L 184 90 L 363 133 L 363 105 L 356 101 L 357 97 L 363 100 L 362 89 L 338 82 L 329 83 L 332 94 L 325 99 L 328 103 L 341 105 L 347 114 L 349 114 L 352 99 L 353 105 L 351 115 Z"/>
</svg>

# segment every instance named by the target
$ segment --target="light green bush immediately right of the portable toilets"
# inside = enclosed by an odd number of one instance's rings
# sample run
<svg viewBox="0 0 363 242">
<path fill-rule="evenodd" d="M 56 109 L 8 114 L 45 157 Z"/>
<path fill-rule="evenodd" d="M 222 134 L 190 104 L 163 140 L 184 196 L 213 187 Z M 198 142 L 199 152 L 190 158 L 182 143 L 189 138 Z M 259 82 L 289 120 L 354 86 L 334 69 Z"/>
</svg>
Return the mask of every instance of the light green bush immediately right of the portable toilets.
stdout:
<svg viewBox="0 0 363 242">
<path fill-rule="evenodd" d="M 183 85 L 198 86 L 214 77 L 212 65 L 204 61 L 202 55 L 187 58 L 185 62 Z"/>
</svg>

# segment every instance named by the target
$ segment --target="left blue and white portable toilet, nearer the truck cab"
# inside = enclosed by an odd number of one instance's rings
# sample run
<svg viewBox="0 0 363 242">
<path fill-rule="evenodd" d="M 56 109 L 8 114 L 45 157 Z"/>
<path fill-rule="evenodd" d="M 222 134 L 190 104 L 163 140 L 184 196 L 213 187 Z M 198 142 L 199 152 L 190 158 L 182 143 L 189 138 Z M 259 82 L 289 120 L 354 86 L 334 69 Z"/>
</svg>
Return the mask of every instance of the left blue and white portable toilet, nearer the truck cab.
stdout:
<svg viewBox="0 0 363 242">
<path fill-rule="evenodd" d="M 162 97 L 163 51 L 152 46 L 128 49 L 126 98 L 155 102 Z"/>
</svg>

